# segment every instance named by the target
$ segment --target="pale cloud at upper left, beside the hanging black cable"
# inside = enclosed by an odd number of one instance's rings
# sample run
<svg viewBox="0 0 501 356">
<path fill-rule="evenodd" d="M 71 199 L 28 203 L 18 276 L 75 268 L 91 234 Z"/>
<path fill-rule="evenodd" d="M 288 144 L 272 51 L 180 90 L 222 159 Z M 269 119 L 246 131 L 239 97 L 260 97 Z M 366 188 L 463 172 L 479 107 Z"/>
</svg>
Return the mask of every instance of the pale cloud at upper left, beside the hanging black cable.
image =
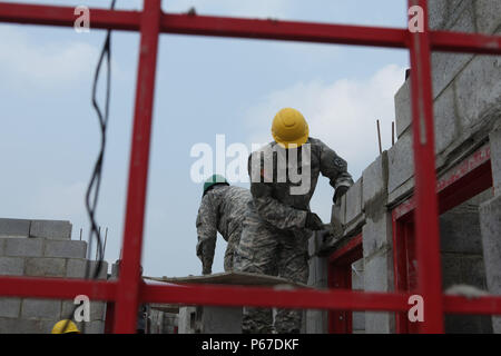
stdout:
<svg viewBox="0 0 501 356">
<path fill-rule="evenodd" d="M 57 88 L 92 73 L 98 49 L 84 41 L 39 42 L 12 26 L 0 27 L 0 71 L 19 88 Z"/>
</svg>

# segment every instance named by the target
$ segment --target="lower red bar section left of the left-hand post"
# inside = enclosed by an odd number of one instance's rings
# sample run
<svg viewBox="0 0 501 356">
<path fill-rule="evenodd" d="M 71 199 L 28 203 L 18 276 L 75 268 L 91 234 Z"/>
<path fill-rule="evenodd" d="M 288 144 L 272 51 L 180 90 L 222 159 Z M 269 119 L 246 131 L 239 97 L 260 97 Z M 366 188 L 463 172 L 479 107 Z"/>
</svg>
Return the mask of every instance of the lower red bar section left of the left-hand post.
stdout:
<svg viewBox="0 0 501 356">
<path fill-rule="evenodd" d="M 0 296 L 73 299 L 86 295 L 91 300 L 114 300 L 116 288 L 115 281 L 105 280 L 0 276 Z"/>
</svg>

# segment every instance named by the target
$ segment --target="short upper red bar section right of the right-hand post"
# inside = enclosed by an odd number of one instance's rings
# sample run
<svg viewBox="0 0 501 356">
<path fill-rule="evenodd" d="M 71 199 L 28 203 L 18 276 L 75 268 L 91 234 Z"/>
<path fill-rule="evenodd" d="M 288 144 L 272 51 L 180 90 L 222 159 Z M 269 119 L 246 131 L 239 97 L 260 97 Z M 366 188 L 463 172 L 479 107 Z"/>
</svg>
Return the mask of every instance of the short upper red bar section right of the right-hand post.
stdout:
<svg viewBox="0 0 501 356">
<path fill-rule="evenodd" d="M 501 55 L 501 36 L 432 31 L 431 47 L 435 51 Z"/>
</svg>

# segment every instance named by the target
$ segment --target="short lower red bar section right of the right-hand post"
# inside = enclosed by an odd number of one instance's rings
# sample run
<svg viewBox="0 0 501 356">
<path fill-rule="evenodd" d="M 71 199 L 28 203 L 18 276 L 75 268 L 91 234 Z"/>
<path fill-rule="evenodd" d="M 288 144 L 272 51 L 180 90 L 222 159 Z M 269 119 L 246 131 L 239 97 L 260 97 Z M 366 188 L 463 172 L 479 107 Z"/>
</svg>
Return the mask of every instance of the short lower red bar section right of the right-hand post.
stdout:
<svg viewBox="0 0 501 356">
<path fill-rule="evenodd" d="M 444 312 L 448 314 L 501 315 L 501 296 L 465 298 L 444 296 Z"/>
</svg>

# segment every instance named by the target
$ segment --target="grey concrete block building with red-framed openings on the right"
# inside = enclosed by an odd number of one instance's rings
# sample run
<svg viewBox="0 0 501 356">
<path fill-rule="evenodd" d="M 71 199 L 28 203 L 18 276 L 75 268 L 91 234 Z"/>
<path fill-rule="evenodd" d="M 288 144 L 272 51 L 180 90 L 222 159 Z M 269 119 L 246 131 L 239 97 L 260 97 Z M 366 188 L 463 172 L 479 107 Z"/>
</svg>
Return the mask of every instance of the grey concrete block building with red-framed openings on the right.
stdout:
<svg viewBox="0 0 501 356">
<path fill-rule="evenodd" d="M 501 34 L 499 0 L 430 0 L 432 29 Z M 402 78 L 403 79 L 403 78 Z M 443 214 L 440 218 L 444 289 L 466 284 L 501 294 L 501 58 L 434 52 L 432 79 L 435 113 L 435 152 L 439 179 L 452 171 L 481 147 L 490 148 L 492 190 Z M 393 291 L 392 210 L 413 194 L 413 149 L 410 82 L 395 95 L 397 141 L 377 157 L 334 206 L 332 225 L 335 238 L 310 243 L 308 285 L 326 288 L 330 254 L 362 234 L 363 284 L 352 278 L 353 287 Z M 490 200 L 489 200 L 490 199 Z M 484 202 L 487 200 L 487 202 Z M 479 210 L 480 209 L 480 210 Z M 480 211 L 480 214 L 479 214 Z M 363 268 L 360 268 L 363 266 Z M 393 313 L 353 315 L 353 332 L 394 333 Z M 501 318 L 446 316 L 451 333 L 501 333 Z M 327 333 L 327 313 L 308 310 L 307 333 Z"/>
</svg>

